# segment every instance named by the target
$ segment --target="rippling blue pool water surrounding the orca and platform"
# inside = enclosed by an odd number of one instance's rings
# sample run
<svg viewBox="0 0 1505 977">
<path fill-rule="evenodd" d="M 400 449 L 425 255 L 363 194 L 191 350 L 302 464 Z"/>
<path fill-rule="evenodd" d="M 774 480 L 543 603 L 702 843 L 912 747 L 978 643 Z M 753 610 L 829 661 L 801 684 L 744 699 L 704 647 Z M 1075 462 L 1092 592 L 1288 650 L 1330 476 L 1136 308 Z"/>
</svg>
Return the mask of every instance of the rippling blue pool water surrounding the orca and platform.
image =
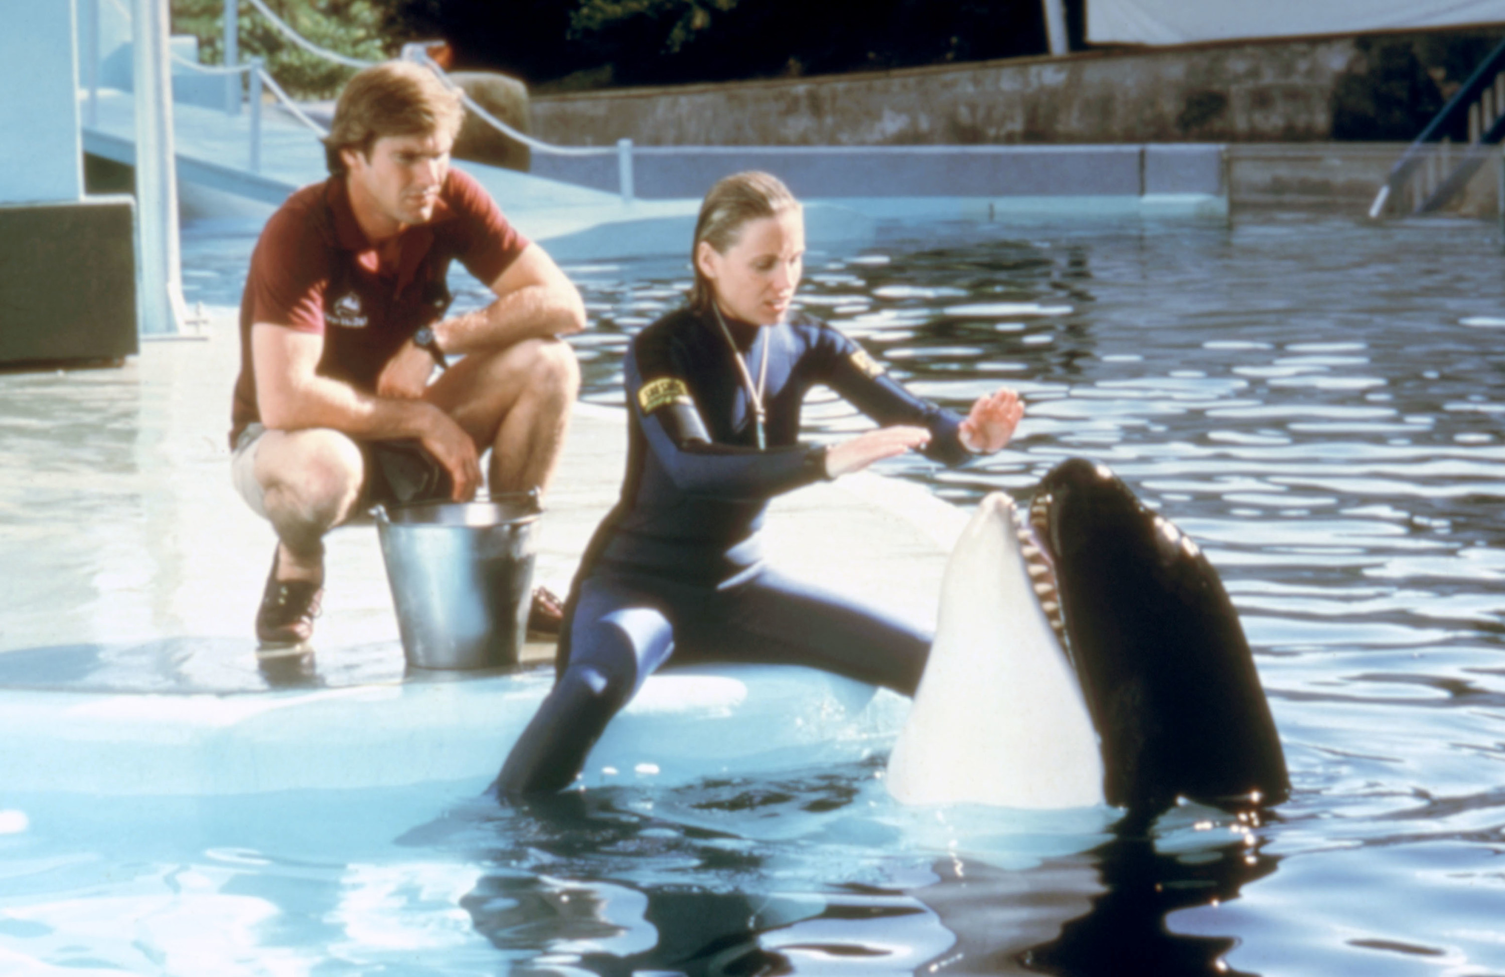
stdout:
<svg viewBox="0 0 1505 977">
<path fill-rule="evenodd" d="M 185 238 L 233 304 L 248 239 Z M 585 396 L 682 260 L 569 268 Z M 278 795 L 0 816 L 0 969 L 36 974 L 1505 974 L 1505 275 L 1494 229 L 1312 215 L 894 229 L 808 309 L 914 390 L 1028 417 L 969 504 L 1067 456 L 1192 534 L 1237 604 L 1294 793 L 908 810 L 882 754 L 500 808 Z M 482 300 L 456 282 L 461 301 Z M 811 437 L 859 429 L 810 405 Z M 42 804 L 41 801 L 38 804 Z M 69 825 L 42 828 L 41 825 Z"/>
</svg>

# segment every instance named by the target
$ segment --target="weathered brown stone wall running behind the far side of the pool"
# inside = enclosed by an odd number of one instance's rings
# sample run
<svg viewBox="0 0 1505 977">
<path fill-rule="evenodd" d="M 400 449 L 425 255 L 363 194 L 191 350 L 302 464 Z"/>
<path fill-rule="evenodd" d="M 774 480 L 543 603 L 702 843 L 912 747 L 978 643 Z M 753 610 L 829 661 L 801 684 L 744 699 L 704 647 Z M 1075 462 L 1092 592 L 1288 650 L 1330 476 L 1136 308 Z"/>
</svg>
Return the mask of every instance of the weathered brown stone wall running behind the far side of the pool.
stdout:
<svg viewBox="0 0 1505 977">
<path fill-rule="evenodd" d="M 563 145 L 886 146 L 1305 142 L 1332 132 L 1351 38 L 546 95 Z"/>
</svg>

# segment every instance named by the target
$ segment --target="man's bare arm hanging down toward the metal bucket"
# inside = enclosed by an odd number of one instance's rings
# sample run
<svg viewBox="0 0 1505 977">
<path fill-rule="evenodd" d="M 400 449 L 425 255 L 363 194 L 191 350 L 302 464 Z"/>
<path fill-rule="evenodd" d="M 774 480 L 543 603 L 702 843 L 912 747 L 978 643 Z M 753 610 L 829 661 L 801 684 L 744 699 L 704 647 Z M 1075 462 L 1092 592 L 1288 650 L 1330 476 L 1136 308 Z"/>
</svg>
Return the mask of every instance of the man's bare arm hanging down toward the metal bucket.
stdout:
<svg viewBox="0 0 1505 977">
<path fill-rule="evenodd" d="M 476 444 L 455 420 L 429 403 L 381 397 L 319 376 L 324 337 L 281 325 L 251 327 L 256 402 L 262 423 L 277 431 L 331 428 L 357 438 L 417 438 L 450 473 L 455 498 L 467 500 L 480 485 Z"/>
</svg>

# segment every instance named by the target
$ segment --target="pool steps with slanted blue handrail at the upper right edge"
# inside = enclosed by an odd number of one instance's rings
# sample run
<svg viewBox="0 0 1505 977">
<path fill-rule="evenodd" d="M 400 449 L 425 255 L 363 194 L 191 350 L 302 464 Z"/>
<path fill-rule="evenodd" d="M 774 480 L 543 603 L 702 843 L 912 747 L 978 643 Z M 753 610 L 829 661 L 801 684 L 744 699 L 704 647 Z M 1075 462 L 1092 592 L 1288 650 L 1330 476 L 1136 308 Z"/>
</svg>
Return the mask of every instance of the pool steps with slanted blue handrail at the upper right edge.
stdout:
<svg viewBox="0 0 1505 977">
<path fill-rule="evenodd" d="M 1467 116 L 1469 142 L 1454 146 L 1445 132 Z M 1370 217 L 1388 212 L 1431 214 L 1446 206 L 1485 163 L 1500 155 L 1505 138 L 1505 42 L 1463 83 L 1442 111 L 1427 123 L 1380 187 Z M 1499 167 L 1499 206 L 1505 215 L 1505 161 Z"/>
</svg>

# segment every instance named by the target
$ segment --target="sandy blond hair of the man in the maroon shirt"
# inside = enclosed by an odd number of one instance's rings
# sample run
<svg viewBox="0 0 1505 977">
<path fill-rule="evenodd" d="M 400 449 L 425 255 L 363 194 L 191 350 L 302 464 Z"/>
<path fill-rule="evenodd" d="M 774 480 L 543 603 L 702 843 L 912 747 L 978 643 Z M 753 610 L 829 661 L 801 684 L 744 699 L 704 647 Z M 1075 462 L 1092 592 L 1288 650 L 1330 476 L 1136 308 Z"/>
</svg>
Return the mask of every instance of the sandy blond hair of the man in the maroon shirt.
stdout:
<svg viewBox="0 0 1505 977">
<path fill-rule="evenodd" d="M 340 92 L 334 122 L 324 137 L 330 173 L 345 172 L 342 149 L 367 160 L 384 135 L 459 135 L 465 120 L 461 93 L 414 62 L 384 62 L 361 69 Z"/>
</svg>

